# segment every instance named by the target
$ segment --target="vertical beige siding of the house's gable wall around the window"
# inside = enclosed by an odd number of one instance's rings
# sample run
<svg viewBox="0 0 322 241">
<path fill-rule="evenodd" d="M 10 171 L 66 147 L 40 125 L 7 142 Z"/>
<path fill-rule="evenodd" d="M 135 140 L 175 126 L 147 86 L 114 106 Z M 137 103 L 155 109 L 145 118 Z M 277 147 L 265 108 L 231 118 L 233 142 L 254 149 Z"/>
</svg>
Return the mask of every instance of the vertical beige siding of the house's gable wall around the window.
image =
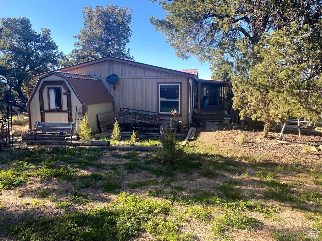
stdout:
<svg viewBox="0 0 322 241">
<path fill-rule="evenodd" d="M 76 74 L 86 74 L 107 77 L 118 75 L 116 90 L 103 79 L 103 84 L 109 89 L 115 99 L 115 118 L 118 119 L 120 108 L 133 108 L 158 112 L 158 83 L 181 82 L 181 120 L 189 125 L 189 103 L 187 103 L 188 80 L 185 76 L 169 74 L 149 68 L 138 67 L 116 61 L 106 61 L 87 67 L 68 71 Z M 173 118 L 172 114 L 162 116 L 164 119 Z M 192 118 L 192 115 L 191 115 Z"/>
</svg>

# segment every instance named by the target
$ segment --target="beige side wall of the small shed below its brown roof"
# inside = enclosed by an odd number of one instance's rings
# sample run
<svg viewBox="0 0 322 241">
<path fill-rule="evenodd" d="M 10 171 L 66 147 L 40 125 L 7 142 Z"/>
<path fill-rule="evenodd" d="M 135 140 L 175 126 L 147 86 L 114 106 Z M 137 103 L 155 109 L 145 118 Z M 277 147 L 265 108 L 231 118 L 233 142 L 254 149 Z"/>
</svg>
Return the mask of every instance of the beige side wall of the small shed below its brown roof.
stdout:
<svg viewBox="0 0 322 241">
<path fill-rule="evenodd" d="M 99 130 L 97 114 L 113 111 L 113 103 L 100 103 L 100 104 L 92 104 L 87 106 L 87 118 L 90 126 L 92 127 L 92 131 L 96 132 Z"/>
</svg>

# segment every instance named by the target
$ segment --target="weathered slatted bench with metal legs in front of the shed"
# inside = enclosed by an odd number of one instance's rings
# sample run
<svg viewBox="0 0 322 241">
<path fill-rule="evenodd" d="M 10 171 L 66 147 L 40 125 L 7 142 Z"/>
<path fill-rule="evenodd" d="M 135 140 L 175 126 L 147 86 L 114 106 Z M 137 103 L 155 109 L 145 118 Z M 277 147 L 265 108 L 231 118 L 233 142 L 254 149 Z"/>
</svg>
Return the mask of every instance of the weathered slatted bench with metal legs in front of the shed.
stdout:
<svg viewBox="0 0 322 241">
<path fill-rule="evenodd" d="M 35 141 L 38 137 L 62 137 L 65 141 L 66 148 L 66 137 L 71 138 L 71 146 L 73 146 L 72 135 L 74 133 L 75 123 L 66 122 L 66 123 L 49 123 L 49 122 L 40 122 L 36 121 L 33 130 L 28 130 L 26 133 L 27 138 L 27 147 L 28 147 L 28 136 L 34 136 Z M 40 133 L 39 133 L 40 132 Z M 55 134 L 55 135 L 53 135 Z"/>
</svg>

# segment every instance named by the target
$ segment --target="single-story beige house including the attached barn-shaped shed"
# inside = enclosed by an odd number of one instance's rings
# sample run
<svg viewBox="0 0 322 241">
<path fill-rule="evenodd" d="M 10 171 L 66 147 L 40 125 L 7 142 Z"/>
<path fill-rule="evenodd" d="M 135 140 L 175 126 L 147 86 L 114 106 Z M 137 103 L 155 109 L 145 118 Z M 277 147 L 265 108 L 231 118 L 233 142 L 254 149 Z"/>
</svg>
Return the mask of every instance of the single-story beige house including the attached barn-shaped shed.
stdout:
<svg viewBox="0 0 322 241">
<path fill-rule="evenodd" d="M 114 86 L 107 81 L 112 74 L 118 76 Z M 174 70 L 107 56 L 33 78 L 38 81 L 27 102 L 30 129 L 35 121 L 71 122 L 77 118 L 76 107 L 88 113 L 93 131 L 99 130 L 100 113 L 114 112 L 114 117 L 122 122 L 120 108 L 158 112 L 163 119 L 173 119 L 171 111 L 176 109 L 187 127 L 194 113 L 205 113 L 198 101 L 204 83 L 199 82 L 198 69 Z M 231 82 L 212 80 L 207 86 L 215 86 L 218 91 L 220 86 L 226 86 L 227 97 Z M 218 106 L 210 111 L 214 108 Z M 219 109 L 224 114 L 221 106 Z"/>
</svg>

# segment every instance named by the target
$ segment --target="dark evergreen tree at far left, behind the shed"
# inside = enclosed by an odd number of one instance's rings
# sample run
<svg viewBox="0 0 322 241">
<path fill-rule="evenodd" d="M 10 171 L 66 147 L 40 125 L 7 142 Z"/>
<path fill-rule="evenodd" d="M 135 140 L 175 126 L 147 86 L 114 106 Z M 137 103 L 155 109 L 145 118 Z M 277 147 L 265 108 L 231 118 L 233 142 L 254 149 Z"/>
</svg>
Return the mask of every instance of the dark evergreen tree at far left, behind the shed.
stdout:
<svg viewBox="0 0 322 241">
<path fill-rule="evenodd" d="M 23 83 L 57 66 L 61 55 L 49 29 L 37 33 L 26 17 L 0 19 L 0 81 L 10 83 L 20 99 L 26 100 Z"/>
</svg>

